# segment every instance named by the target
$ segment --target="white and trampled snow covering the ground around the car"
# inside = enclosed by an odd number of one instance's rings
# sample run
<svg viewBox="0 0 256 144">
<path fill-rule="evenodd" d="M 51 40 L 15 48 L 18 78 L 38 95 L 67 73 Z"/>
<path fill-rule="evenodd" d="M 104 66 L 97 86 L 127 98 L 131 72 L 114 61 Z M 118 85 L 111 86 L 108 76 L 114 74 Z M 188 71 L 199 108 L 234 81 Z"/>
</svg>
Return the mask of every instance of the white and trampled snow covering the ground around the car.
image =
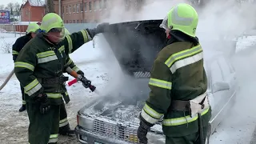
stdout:
<svg viewBox="0 0 256 144">
<path fill-rule="evenodd" d="M 2 34 L 0 37 L 5 37 L 6 42 L 14 42 L 13 34 Z M 251 42 L 253 38 L 244 38 L 245 41 Z M 253 39 L 254 40 L 254 39 Z M 97 42 L 97 37 L 96 37 Z M 252 43 L 252 42 L 251 42 Z M 4 45 L 0 41 L 0 46 Z M 238 42 L 242 46 L 242 42 Z M 97 86 L 98 92 L 103 95 L 109 91 L 109 86 L 106 85 L 110 81 L 111 71 L 116 70 L 115 64 L 108 62 L 110 59 L 110 51 L 106 50 L 106 45 L 98 44 L 93 48 L 93 42 L 84 44 L 81 48 L 70 55 L 70 58 L 83 70 L 86 77 L 92 81 L 92 84 Z M 241 90 L 238 92 L 238 101 L 234 106 L 234 110 L 222 122 L 210 138 L 210 144 L 245 144 L 250 142 L 256 125 L 255 112 L 250 106 L 254 105 L 254 99 L 251 99 L 255 94 L 254 86 L 256 78 L 250 78 L 254 75 L 256 69 L 251 69 L 250 65 L 245 65 L 247 61 L 254 62 L 256 53 L 250 53 L 250 57 L 234 58 L 234 66 L 238 70 L 238 80 Z M 2 62 L 0 63 L 0 82 L 4 82 L 7 75 L 14 68 L 11 54 L 0 54 Z M 241 69 L 242 68 L 242 69 Z M 70 80 L 73 78 L 70 77 Z M 246 79 L 246 81 L 245 81 Z M 76 83 L 74 86 L 67 87 L 70 94 L 70 103 L 66 105 L 68 119 L 71 128 L 76 126 L 76 114 L 78 110 L 90 102 L 92 98 L 98 98 L 99 95 L 85 89 L 81 83 Z M 246 103 L 246 104 L 245 104 Z M 242 105 L 241 105 L 242 104 Z M 0 91 L 0 143 L 26 143 L 28 118 L 26 112 L 19 113 L 18 109 L 22 105 L 21 92 L 19 82 L 15 76 L 10 79 Z M 238 118 L 239 117 L 239 118 Z M 77 139 L 59 137 L 59 143 L 78 143 Z"/>
</svg>

